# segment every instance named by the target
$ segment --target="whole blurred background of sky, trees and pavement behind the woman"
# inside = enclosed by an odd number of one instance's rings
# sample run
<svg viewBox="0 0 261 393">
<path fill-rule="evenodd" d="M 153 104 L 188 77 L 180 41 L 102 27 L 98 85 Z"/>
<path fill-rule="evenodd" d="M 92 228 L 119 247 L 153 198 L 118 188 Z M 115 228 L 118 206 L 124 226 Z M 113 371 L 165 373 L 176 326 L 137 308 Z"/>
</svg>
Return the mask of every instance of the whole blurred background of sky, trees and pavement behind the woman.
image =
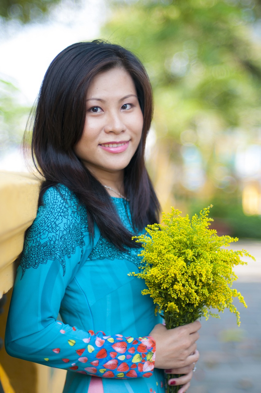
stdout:
<svg viewBox="0 0 261 393">
<path fill-rule="evenodd" d="M 162 210 L 213 204 L 212 227 L 257 259 L 236 269 L 241 328 L 229 312 L 202 321 L 189 391 L 261 393 L 261 0 L 0 0 L 0 170 L 26 171 L 20 141 L 52 59 L 97 38 L 151 78 L 146 154 Z"/>
</svg>

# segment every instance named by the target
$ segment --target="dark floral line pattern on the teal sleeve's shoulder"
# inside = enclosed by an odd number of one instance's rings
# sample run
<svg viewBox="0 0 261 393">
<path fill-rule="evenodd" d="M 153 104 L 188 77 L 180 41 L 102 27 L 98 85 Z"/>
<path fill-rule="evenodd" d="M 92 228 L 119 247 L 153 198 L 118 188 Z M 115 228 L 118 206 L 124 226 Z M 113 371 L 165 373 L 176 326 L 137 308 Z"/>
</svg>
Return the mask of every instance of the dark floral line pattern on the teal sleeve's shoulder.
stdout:
<svg viewBox="0 0 261 393">
<path fill-rule="evenodd" d="M 86 211 L 66 187 L 50 188 L 44 194 L 44 204 L 39 207 L 37 218 L 29 228 L 20 266 L 22 277 L 29 268 L 37 268 L 47 261 L 59 260 L 65 274 L 65 257 L 70 258 L 77 247 L 85 245 L 88 231 Z M 21 277 L 21 278 L 22 278 Z"/>
</svg>

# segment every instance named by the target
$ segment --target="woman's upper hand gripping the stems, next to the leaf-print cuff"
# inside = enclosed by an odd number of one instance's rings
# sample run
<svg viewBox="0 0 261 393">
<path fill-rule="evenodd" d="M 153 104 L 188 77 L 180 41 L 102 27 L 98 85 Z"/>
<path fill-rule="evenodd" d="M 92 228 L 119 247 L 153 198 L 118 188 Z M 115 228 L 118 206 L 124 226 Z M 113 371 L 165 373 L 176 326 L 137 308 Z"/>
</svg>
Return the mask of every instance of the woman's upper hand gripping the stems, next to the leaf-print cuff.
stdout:
<svg viewBox="0 0 261 393">
<path fill-rule="evenodd" d="M 150 333 L 156 342 L 154 366 L 160 369 L 180 369 L 199 359 L 196 341 L 199 339 L 199 321 L 167 330 L 158 323 Z M 182 378 L 182 377 L 180 377 Z"/>
</svg>

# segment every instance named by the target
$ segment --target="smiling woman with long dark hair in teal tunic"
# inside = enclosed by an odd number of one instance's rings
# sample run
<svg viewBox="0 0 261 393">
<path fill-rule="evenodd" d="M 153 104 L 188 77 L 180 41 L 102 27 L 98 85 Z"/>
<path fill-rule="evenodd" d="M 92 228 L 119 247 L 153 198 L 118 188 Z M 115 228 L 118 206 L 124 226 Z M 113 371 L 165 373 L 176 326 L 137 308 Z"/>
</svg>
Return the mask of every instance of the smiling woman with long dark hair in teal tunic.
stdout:
<svg viewBox="0 0 261 393">
<path fill-rule="evenodd" d="M 132 235 L 158 220 L 144 163 L 152 109 L 140 61 L 101 41 L 63 50 L 42 82 L 32 152 L 45 180 L 6 349 L 68 370 L 66 393 L 164 392 L 164 369 L 184 374 L 169 382 L 184 393 L 199 358 L 200 323 L 167 331 L 128 275 L 140 265 Z"/>
</svg>

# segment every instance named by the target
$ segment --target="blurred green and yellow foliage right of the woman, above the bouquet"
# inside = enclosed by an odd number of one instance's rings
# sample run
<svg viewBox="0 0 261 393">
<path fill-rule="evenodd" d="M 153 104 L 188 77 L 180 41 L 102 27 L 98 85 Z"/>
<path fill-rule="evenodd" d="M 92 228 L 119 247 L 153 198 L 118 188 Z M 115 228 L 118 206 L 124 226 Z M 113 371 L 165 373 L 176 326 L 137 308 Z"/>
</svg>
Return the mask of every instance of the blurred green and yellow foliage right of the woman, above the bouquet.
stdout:
<svg viewBox="0 0 261 393">
<path fill-rule="evenodd" d="M 247 182 L 261 187 L 260 174 L 237 167 L 240 151 L 261 145 L 260 0 L 111 6 L 103 37 L 138 55 L 151 78 L 154 129 L 173 168 L 175 206 L 195 212 L 212 203 L 233 234 L 242 227 L 241 237 L 261 238 L 260 217 L 246 216 L 241 199 Z"/>
</svg>

